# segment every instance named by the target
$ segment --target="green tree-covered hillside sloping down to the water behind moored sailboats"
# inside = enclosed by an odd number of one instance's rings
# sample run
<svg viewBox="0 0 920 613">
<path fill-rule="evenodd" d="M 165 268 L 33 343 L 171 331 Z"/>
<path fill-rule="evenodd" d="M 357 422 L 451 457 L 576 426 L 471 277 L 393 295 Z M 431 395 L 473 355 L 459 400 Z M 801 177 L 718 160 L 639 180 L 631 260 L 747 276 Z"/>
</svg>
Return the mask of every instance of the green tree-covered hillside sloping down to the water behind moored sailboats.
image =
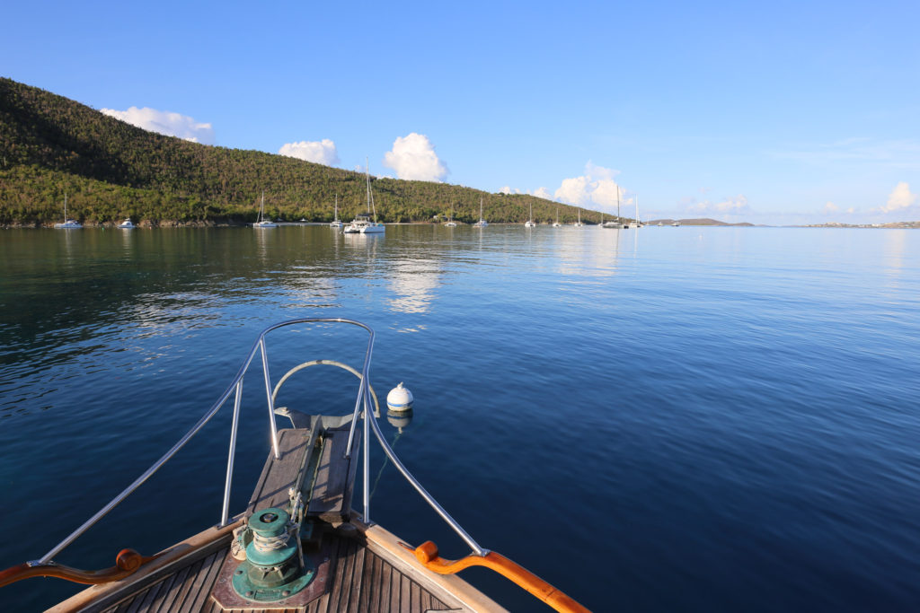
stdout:
<svg viewBox="0 0 920 613">
<path fill-rule="evenodd" d="M 364 210 L 364 176 L 291 157 L 187 142 L 144 131 L 63 96 L 0 78 L 0 225 L 50 225 L 68 214 L 89 225 L 131 217 L 154 224 L 254 221 L 266 214 L 329 221 Z M 431 221 L 454 206 L 454 219 L 575 221 L 574 207 L 526 195 L 469 187 L 373 179 L 381 221 Z M 582 221 L 600 214 L 584 210 Z M 609 219 L 609 217 L 608 217 Z"/>
</svg>

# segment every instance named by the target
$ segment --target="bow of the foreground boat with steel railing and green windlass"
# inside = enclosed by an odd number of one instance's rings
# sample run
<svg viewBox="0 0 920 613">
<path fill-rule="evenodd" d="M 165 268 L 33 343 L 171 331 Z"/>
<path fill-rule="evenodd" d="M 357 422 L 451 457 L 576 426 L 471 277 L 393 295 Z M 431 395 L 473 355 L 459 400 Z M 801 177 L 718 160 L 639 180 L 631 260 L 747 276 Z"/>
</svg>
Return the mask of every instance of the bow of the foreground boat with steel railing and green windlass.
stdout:
<svg viewBox="0 0 920 613">
<path fill-rule="evenodd" d="M 287 326 L 351 325 L 368 334 L 362 369 L 312 359 L 288 370 L 272 387 L 266 337 Z M 302 329 L 300 330 L 302 331 Z M 374 331 L 345 319 L 296 319 L 271 325 L 249 350 L 244 365 L 216 403 L 173 448 L 121 494 L 102 507 L 40 559 L 0 572 L 0 586 L 35 576 L 93 585 L 53 607 L 55 611 L 493 611 L 489 596 L 456 576 L 484 566 L 509 578 L 558 611 L 586 611 L 552 585 L 494 551 L 483 549 L 434 500 L 387 444 L 377 424 L 379 407 L 369 382 Z M 256 360 L 259 355 L 260 360 Z M 245 509 L 231 515 L 230 497 L 243 379 L 250 365 L 262 366 L 270 421 L 268 459 Z M 359 382 L 350 413 L 303 414 L 276 405 L 282 386 L 314 366 L 354 374 Z M 85 571 L 53 561 L 147 481 L 233 397 L 233 422 L 222 515 L 216 526 L 190 534 L 152 556 L 122 550 L 115 565 Z M 411 410 L 412 396 L 400 384 L 387 397 L 397 415 Z M 345 409 L 351 408 L 351 403 Z M 277 417 L 292 427 L 279 429 Z M 371 519 L 372 437 L 386 458 L 421 498 L 470 547 L 461 560 L 444 560 L 431 541 L 412 547 Z M 354 481 L 362 470 L 362 510 L 352 509 Z"/>
</svg>

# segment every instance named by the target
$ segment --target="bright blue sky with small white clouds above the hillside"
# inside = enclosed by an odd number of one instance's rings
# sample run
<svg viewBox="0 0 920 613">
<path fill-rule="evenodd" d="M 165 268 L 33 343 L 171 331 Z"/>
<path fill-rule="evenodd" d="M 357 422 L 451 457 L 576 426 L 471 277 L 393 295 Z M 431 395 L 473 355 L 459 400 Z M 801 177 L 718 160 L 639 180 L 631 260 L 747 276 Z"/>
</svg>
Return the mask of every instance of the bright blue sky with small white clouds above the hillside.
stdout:
<svg viewBox="0 0 920 613">
<path fill-rule="evenodd" d="M 646 219 L 920 220 L 917 2 L 7 4 L 0 74 L 200 142 Z"/>
</svg>

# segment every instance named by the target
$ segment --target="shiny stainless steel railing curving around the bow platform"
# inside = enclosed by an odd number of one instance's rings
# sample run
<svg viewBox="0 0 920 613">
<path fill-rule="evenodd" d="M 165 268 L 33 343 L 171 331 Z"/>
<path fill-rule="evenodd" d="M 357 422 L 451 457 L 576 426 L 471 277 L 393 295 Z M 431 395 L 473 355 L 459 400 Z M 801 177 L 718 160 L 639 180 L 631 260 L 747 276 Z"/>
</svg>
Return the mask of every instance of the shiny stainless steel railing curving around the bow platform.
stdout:
<svg viewBox="0 0 920 613">
<path fill-rule="evenodd" d="M 370 368 L 371 368 L 371 356 L 374 351 L 374 330 L 369 326 L 362 324 L 361 322 L 356 322 L 349 319 L 342 319 L 339 317 L 329 318 L 329 317 L 312 317 L 312 318 L 303 318 L 303 319 L 293 319 L 279 324 L 270 325 L 268 328 L 262 330 L 259 334 L 259 338 L 253 344 L 252 348 L 249 350 L 246 360 L 243 363 L 243 366 L 236 372 L 236 377 L 232 380 L 229 386 L 216 403 L 213 403 L 211 408 L 206 414 L 204 414 L 201 419 L 194 426 L 191 427 L 189 432 L 185 436 L 181 437 L 178 442 L 173 445 L 159 460 L 156 460 L 154 464 L 144 471 L 144 473 L 138 477 L 134 482 L 126 487 L 121 494 L 115 496 L 108 505 L 103 506 L 99 511 L 89 519 L 86 520 L 79 528 L 76 528 L 67 538 L 63 539 L 58 543 L 51 551 L 48 551 L 44 556 L 42 556 L 37 561 L 29 562 L 30 565 L 34 564 L 46 564 L 51 562 L 52 558 L 63 551 L 68 545 L 74 542 L 75 539 L 80 537 L 83 533 L 86 532 L 89 528 L 92 528 L 99 519 L 105 517 L 109 514 L 113 508 L 121 504 L 125 498 L 131 495 L 138 487 L 140 487 L 144 482 L 146 482 L 150 477 L 152 477 L 156 471 L 159 471 L 160 468 L 167 463 L 168 460 L 172 459 L 173 456 L 178 453 L 178 450 L 185 447 L 186 443 L 189 442 L 191 437 L 194 437 L 201 428 L 211 421 L 211 418 L 217 414 L 218 411 L 224 406 L 224 403 L 230 398 L 231 394 L 235 396 L 234 399 L 234 413 L 233 413 L 233 422 L 230 430 L 230 448 L 228 451 L 227 457 L 227 471 L 226 479 L 224 482 L 224 503 L 221 510 L 221 521 L 219 527 L 224 527 L 229 523 L 229 505 L 230 505 L 230 492 L 233 484 L 233 464 L 234 457 L 236 456 L 236 436 L 239 426 L 239 413 L 242 404 L 243 397 L 243 378 L 249 369 L 249 366 L 252 364 L 252 360 L 256 357 L 257 352 L 261 355 L 262 363 L 262 373 L 263 379 L 265 381 L 265 392 L 266 398 L 268 401 L 269 407 L 269 424 L 271 431 L 271 448 L 274 457 L 279 458 L 279 449 L 278 449 L 278 429 L 275 425 L 275 407 L 274 407 L 274 397 L 271 392 L 271 380 L 269 374 L 269 358 L 268 358 L 268 349 L 265 343 L 265 336 L 268 335 L 272 330 L 277 330 L 284 326 L 293 325 L 293 324 L 351 324 L 363 328 L 368 333 L 368 342 L 367 350 L 364 353 L 364 361 L 361 369 L 361 383 L 358 387 L 358 396 L 355 399 L 354 411 L 351 418 L 351 429 L 349 431 L 349 440 L 348 440 L 348 449 L 351 453 L 351 445 L 354 441 L 355 427 L 357 426 L 358 420 L 362 418 L 362 408 L 363 408 L 363 515 L 362 518 L 364 522 L 370 523 L 371 519 L 371 494 L 370 494 L 370 477 L 371 477 L 371 448 L 370 448 L 370 429 L 374 429 L 374 436 L 377 438 L 377 441 L 380 443 L 381 448 L 383 448 L 384 453 L 387 458 L 393 465 L 397 467 L 397 470 L 403 475 L 403 477 L 416 489 L 421 497 L 431 505 L 431 508 L 443 518 L 443 520 L 450 526 L 457 535 L 463 539 L 467 545 L 476 553 L 477 555 L 485 555 L 488 553 L 488 550 L 484 550 L 479 547 L 476 540 L 469 536 L 466 533 L 466 530 L 456 522 L 456 520 L 451 517 L 441 505 L 434 499 L 434 497 L 429 494 L 421 483 L 408 471 L 408 469 L 403 465 L 403 463 L 397 458 L 396 453 L 390 448 L 387 444 L 383 433 L 380 431 L 380 426 L 377 424 L 376 418 L 373 417 L 374 412 L 371 410 L 370 406 Z M 368 416 L 372 418 L 368 419 Z"/>
</svg>

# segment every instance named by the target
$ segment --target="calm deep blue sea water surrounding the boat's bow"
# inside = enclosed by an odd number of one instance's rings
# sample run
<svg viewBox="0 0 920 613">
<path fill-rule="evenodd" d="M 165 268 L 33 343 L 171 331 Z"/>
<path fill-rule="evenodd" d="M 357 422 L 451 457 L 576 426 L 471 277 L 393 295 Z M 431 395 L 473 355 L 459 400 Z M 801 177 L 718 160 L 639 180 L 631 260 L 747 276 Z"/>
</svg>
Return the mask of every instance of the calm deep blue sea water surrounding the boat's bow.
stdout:
<svg viewBox="0 0 920 613">
<path fill-rule="evenodd" d="M 5 231 L 0 262 L 0 568 L 164 453 L 263 327 L 342 316 L 377 332 L 377 391 L 416 396 L 402 433 L 384 425 L 408 468 L 480 544 L 586 606 L 920 610 L 920 233 Z M 362 336 L 302 330 L 270 354 L 275 379 L 359 366 Z M 348 412 L 351 375 L 312 370 L 283 403 Z M 267 452 L 256 373 L 239 508 Z M 109 566 L 215 523 L 230 408 L 57 560 Z M 465 555 L 373 460 L 372 517 Z M 3 598 L 72 591 L 32 579 Z"/>
</svg>

